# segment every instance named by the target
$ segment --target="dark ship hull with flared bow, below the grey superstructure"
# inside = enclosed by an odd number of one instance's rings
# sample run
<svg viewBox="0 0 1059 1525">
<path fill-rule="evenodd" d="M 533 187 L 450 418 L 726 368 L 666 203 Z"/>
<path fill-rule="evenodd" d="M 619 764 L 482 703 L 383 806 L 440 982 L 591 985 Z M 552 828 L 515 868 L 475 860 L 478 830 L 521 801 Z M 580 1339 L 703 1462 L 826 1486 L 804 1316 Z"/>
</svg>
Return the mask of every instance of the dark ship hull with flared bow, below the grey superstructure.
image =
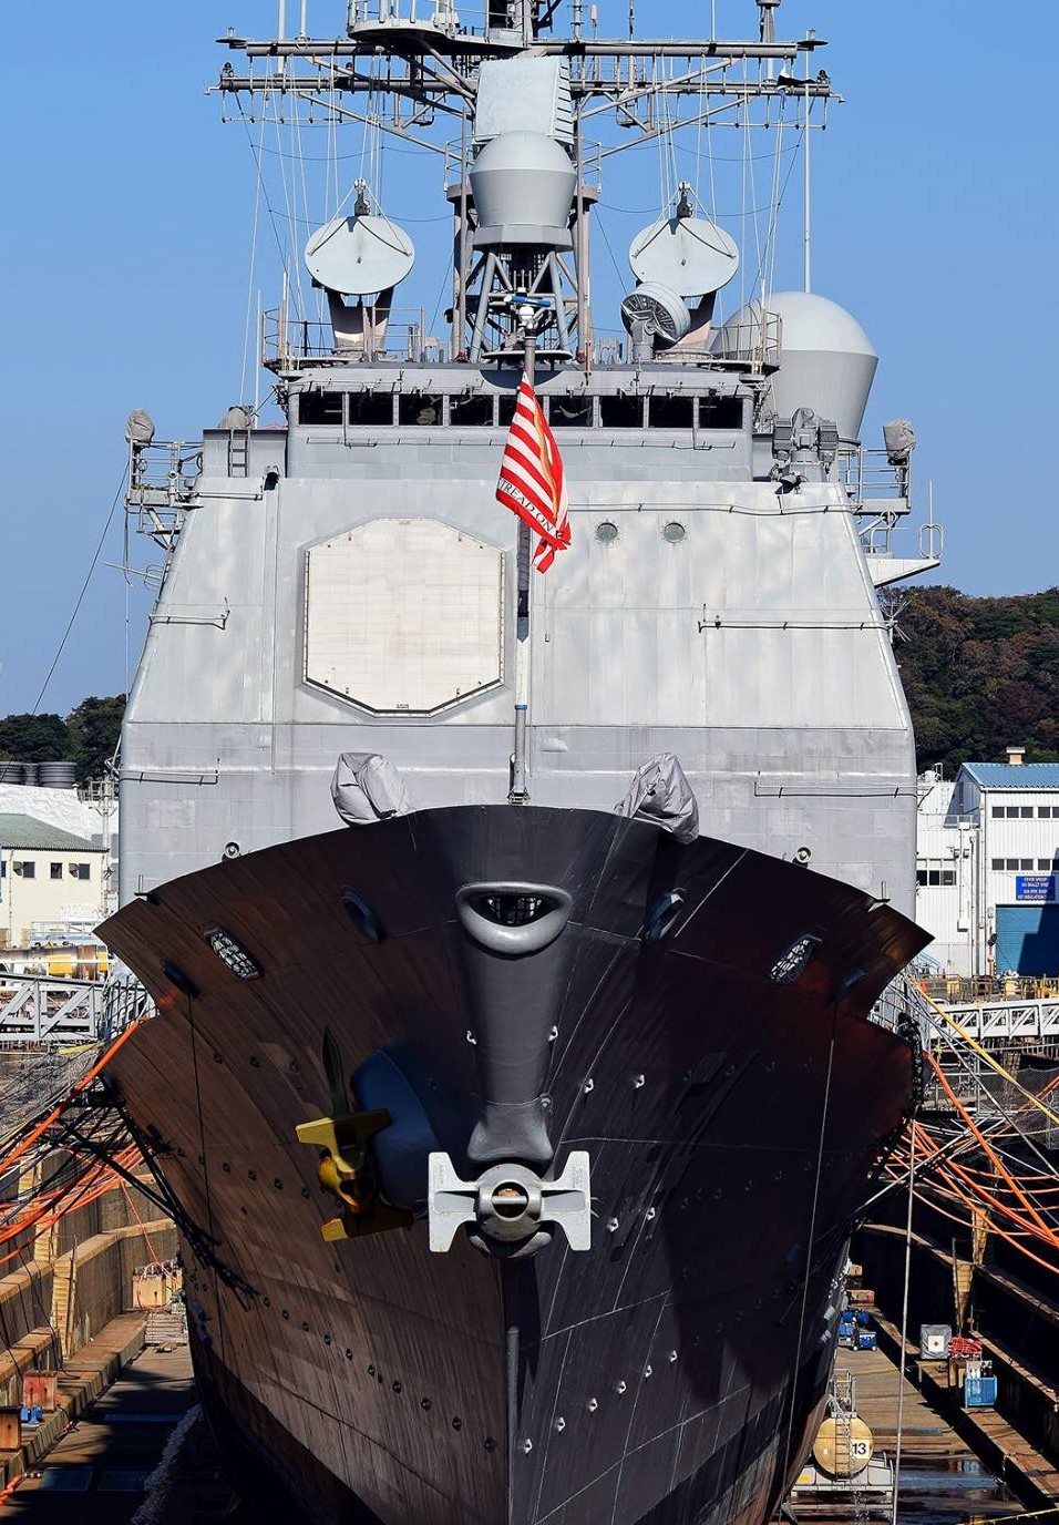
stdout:
<svg viewBox="0 0 1059 1525">
<path fill-rule="evenodd" d="M 570 924 L 545 953 L 483 958 L 454 915 L 483 880 L 565 889 Z M 681 920 L 646 944 L 673 888 Z M 382 941 L 350 926 L 347 889 Z M 219 1264 L 187 1249 L 197 1360 L 256 1470 L 325 1520 L 768 1519 L 826 1389 L 850 1217 L 908 1098 L 908 1045 L 865 1016 L 919 930 L 727 843 L 512 807 L 293 842 L 154 900 L 104 929 L 163 1006 L 114 1068 L 219 1241 Z M 216 924 L 264 979 L 218 962 Z M 815 958 L 774 984 L 806 932 Z M 392 1055 L 463 1173 L 475 1125 L 478 1159 L 541 1136 L 556 1167 L 588 1150 L 591 1250 L 498 1263 L 457 1235 L 431 1255 L 421 1222 L 325 1244 L 334 1209 L 294 1141 L 328 1110 L 325 1028 L 346 1071 Z"/>
</svg>

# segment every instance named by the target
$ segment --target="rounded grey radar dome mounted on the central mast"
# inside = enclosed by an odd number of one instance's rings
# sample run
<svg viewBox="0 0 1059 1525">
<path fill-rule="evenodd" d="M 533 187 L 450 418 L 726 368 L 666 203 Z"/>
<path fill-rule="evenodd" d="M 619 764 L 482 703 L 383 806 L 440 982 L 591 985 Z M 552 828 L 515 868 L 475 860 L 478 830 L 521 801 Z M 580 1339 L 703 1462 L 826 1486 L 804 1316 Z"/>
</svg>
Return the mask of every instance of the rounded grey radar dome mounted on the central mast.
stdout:
<svg viewBox="0 0 1059 1525">
<path fill-rule="evenodd" d="M 570 247 L 577 177 L 567 151 L 544 133 L 501 133 L 471 171 L 478 249 L 503 244 Z"/>
</svg>

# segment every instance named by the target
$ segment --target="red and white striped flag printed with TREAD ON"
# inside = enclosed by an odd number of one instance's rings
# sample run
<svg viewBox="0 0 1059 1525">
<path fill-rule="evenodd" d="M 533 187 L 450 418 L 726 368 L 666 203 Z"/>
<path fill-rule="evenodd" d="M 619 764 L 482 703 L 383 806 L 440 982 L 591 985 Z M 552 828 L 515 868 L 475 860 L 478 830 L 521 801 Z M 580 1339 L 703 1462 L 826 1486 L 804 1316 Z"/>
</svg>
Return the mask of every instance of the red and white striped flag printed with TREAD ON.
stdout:
<svg viewBox="0 0 1059 1525">
<path fill-rule="evenodd" d="M 527 375 L 518 387 L 515 416 L 500 462 L 497 502 L 538 532 L 533 566 L 547 572 L 556 551 L 570 544 L 570 499 L 559 447 Z"/>
</svg>

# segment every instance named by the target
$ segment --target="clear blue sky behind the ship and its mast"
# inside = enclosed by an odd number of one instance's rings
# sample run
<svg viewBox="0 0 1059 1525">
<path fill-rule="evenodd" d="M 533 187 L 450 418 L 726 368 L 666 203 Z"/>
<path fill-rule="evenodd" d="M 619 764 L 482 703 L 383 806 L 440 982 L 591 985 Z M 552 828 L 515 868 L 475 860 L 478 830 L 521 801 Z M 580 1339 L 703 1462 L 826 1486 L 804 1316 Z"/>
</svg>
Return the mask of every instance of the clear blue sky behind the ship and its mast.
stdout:
<svg viewBox="0 0 1059 1525">
<path fill-rule="evenodd" d="M 693 35 L 709 17 L 707 0 L 637 9 L 641 35 Z M 620 35 L 626 0 L 599 0 L 599 12 L 600 32 Z M 309 0 L 309 30 L 334 35 L 343 14 L 343 0 Z M 718 30 L 751 35 L 756 14 L 751 0 L 718 0 Z M 203 90 L 224 58 L 215 37 L 229 24 L 271 35 L 273 23 L 273 0 L 52 0 L 5 15 L 0 715 L 37 700 L 120 480 L 128 410 L 146 407 L 160 438 L 194 438 L 238 400 L 254 175 L 247 133 L 222 127 Z M 1059 6 L 785 0 L 782 34 L 809 26 L 830 41 L 821 63 L 847 99 L 814 139 L 814 287 L 850 307 L 879 349 L 865 438 L 885 418 L 914 421 L 923 503 L 933 479 L 946 528 L 945 581 L 971 593 L 1051 586 Z M 360 149 L 352 128 L 349 178 Z M 306 152 L 325 151 L 317 130 Z M 715 143 L 716 156 L 739 152 Z M 273 152 L 276 195 L 279 165 Z M 419 247 L 411 300 L 433 310 L 437 166 L 389 154 L 382 189 Z M 614 264 L 625 279 L 623 250 L 657 198 L 654 152 L 609 162 L 600 223 L 616 261 L 597 236 L 600 328 L 617 326 Z M 309 214 L 323 220 L 323 207 Z M 777 287 L 800 281 L 797 172 L 786 214 Z M 277 270 L 265 224 L 265 305 Z M 123 688 L 125 587 L 105 566 L 120 537 L 119 512 L 43 709 Z M 133 564 L 157 560 L 133 541 Z M 130 608 L 134 666 L 142 592 Z"/>
</svg>

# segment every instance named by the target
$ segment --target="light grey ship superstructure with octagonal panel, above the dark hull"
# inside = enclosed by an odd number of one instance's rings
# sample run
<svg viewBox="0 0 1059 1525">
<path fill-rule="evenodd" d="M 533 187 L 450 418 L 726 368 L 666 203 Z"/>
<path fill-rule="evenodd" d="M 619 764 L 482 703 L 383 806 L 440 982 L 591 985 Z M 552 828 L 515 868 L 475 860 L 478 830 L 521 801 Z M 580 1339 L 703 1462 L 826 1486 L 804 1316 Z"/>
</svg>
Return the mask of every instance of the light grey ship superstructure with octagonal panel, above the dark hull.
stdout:
<svg viewBox="0 0 1059 1525">
<path fill-rule="evenodd" d="M 410 37 L 430 40 L 410 23 L 382 34 L 354 12 L 354 49 L 411 53 Z M 798 49 L 769 44 L 771 8 L 763 21 L 759 55 L 788 67 Z M 661 331 L 626 320 L 635 363 L 594 343 L 585 224 L 597 192 L 582 180 L 571 197 L 570 145 L 577 108 L 606 98 L 606 79 L 590 88 L 603 66 L 582 59 L 571 95 L 570 64 L 498 59 L 497 44 L 465 130 L 468 174 L 450 177 L 456 358 L 422 363 L 439 354 L 422 334 L 414 358 L 387 357 L 382 299 L 346 307 L 328 291 L 325 325 L 282 310 L 265 360 L 286 429 L 230 410 L 230 427 L 204 435 L 201 473 L 177 502 L 169 488 L 171 555 L 122 749 L 122 898 L 229 845 L 245 852 L 334 825 L 326 782 L 340 750 L 384 753 L 418 808 L 507 798 L 517 520 L 494 486 L 520 358 L 504 281 L 524 274 L 530 241 L 544 293 L 536 386 L 573 526 L 555 572 L 530 583 L 530 799 L 609 808 L 638 762 L 673 752 L 704 831 L 777 856 L 808 848 L 814 868 L 911 909 L 914 753 L 875 584 L 931 560 L 869 554 L 879 534 L 890 549 L 908 512 L 907 458 L 885 496 L 864 486 L 856 441 L 875 351 L 849 314 L 809 293 L 766 293 L 721 326 L 713 294 L 698 307 L 689 297 L 677 343 L 664 311 Z M 710 56 L 727 53 L 734 69 L 739 47 L 713 44 Z M 811 56 L 815 43 L 805 47 Z M 474 59 L 462 66 L 474 79 Z M 684 67 L 690 93 L 695 66 Z M 702 110 L 715 110 L 728 72 L 712 64 L 709 81 Z M 821 81 L 814 102 L 832 93 Z M 262 81 L 229 73 L 222 85 Z M 776 96 L 771 78 L 757 90 Z M 521 108 L 500 131 L 504 99 Z M 533 166 L 541 142 L 558 168 Z M 492 223 L 475 221 L 472 192 Z M 719 236 L 681 194 L 661 209 L 661 241 L 702 224 Z M 364 191 L 358 206 L 367 210 Z M 386 218 L 369 221 L 386 233 Z M 483 314 L 509 325 L 492 348 Z M 137 506 L 152 450 L 133 445 Z"/>
</svg>

